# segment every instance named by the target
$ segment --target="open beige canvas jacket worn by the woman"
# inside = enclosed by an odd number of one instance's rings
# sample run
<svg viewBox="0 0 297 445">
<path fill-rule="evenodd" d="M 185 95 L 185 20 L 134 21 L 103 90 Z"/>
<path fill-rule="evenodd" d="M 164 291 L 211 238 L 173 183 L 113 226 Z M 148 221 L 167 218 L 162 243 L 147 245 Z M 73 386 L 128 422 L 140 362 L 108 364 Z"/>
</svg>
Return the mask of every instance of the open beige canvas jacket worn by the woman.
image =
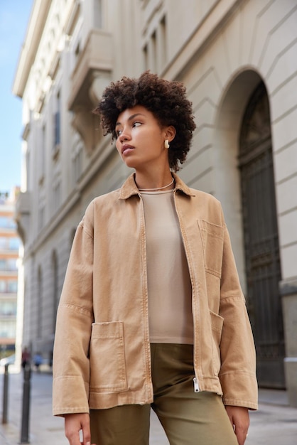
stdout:
<svg viewBox="0 0 297 445">
<path fill-rule="evenodd" d="M 176 175 L 175 183 L 193 287 L 195 390 L 257 409 L 254 341 L 221 205 Z M 53 413 L 151 402 L 146 230 L 131 175 L 95 198 L 77 227 L 58 308 Z"/>
</svg>

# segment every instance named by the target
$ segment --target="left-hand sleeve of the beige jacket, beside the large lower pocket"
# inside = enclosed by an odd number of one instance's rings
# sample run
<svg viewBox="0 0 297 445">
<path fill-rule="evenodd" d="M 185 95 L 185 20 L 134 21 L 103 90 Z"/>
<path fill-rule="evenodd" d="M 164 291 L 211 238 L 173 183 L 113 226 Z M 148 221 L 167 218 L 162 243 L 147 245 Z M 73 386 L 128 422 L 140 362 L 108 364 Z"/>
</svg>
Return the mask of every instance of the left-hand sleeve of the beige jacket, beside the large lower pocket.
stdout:
<svg viewBox="0 0 297 445">
<path fill-rule="evenodd" d="M 58 306 L 53 350 L 54 415 L 89 412 L 93 229 L 87 220 L 85 215 L 77 227 Z"/>
</svg>

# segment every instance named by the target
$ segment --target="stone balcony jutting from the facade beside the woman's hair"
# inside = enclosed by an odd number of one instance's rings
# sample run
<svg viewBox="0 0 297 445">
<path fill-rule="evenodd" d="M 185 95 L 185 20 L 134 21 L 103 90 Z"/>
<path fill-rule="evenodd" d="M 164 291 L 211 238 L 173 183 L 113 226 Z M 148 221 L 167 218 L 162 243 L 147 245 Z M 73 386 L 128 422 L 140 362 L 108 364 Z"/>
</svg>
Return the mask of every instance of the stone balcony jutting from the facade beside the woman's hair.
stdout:
<svg viewBox="0 0 297 445">
<path fill-rule="evenodd" d="M 72 125 L 82 137 L 88 153 L 92 153 L 100 137 L 92 109 L 109 84 L 111 73 L 112 34 L 94 28 L 77 58 L 68 102 L 69 109 L 74 112 Z"/>
</svg>

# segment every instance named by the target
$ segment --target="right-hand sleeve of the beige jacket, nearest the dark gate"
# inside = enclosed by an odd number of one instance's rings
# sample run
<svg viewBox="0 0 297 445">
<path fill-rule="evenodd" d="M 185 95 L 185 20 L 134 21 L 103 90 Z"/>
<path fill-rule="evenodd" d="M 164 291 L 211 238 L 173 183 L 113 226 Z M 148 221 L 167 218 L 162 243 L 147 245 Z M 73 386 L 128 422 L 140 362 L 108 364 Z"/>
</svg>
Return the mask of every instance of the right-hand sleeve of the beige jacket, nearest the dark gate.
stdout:
<svg viewBox="0 0 297 445">
<path fill-rule="evenodd" d="M 254 338 L 226 226 L 222 257 L 220 316 L 224 318 L 220 343 L 220 382 L 223 402 L 228 405 L 257 409 Z"/>
</svg>

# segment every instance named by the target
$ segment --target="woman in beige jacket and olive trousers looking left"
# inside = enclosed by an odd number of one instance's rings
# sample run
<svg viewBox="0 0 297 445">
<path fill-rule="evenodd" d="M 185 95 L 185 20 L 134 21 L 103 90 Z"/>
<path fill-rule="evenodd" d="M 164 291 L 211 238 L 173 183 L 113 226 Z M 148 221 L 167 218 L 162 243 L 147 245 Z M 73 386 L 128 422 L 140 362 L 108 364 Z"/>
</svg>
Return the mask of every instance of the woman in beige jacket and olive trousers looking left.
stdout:
<svg viewBox="0 0 297 445">
<path fill-rule="evenodd" d="M 175 174 L 195 129 L 185 87 L 124 77 L 95 112 L 134 173 L 77 227 L 53 412 L 70 445 L 147 445 L 151 407 L 171 445 L 243 445 L 254 342 L 220 203 Z"/>
</svg>

